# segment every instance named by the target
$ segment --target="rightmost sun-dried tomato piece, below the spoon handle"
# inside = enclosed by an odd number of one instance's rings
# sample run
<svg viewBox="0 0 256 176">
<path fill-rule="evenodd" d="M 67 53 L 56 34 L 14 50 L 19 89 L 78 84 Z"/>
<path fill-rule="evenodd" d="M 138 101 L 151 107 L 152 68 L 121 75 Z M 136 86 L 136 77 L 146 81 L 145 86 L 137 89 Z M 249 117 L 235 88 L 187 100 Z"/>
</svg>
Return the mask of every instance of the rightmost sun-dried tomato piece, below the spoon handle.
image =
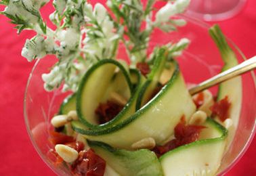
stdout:
<svg viewBox="0 0 256 176">
<path fill-rule="evenodd" d="M 211 106 L 212 116 L 219 116 L 219 120 L 225 121 L 230 115 L 230 106 L 231 103 L 228 101 L 228 96 L 224 97 Z"/>
</svg>

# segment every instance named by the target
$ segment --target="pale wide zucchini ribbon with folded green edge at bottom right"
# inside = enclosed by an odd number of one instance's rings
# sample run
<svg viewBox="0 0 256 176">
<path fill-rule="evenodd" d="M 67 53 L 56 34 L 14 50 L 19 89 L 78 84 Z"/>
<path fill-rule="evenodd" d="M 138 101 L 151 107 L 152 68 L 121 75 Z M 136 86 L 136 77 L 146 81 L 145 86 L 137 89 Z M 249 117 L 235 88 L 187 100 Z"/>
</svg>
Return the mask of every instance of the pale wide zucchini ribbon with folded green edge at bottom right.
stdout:
<svg viewBox="0 0 256 176">
<path fill-rule="evenodd" d="M 205 126 L 215 135 L 175 148 L 159 158 L 164 175 L 216 175 L 228 131 L 212 118 L 207 118 Z"/>
</svg>

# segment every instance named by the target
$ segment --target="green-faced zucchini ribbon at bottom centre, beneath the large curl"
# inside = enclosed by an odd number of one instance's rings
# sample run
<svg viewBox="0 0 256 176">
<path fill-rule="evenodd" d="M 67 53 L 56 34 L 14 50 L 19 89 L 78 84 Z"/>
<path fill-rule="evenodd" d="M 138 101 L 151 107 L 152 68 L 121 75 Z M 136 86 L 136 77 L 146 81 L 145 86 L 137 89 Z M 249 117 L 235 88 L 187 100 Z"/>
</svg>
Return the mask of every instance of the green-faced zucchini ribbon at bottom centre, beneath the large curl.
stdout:
<svg viewBox="0 0 256 176">
<path fill-rule="evenodd" d="M 162 176 L 161 164 L 156 155 L 147 149 L 128 151 L 112 148 L 99 141 L 88 141 L 89 146 L 122 176 Z"/>
</svg>

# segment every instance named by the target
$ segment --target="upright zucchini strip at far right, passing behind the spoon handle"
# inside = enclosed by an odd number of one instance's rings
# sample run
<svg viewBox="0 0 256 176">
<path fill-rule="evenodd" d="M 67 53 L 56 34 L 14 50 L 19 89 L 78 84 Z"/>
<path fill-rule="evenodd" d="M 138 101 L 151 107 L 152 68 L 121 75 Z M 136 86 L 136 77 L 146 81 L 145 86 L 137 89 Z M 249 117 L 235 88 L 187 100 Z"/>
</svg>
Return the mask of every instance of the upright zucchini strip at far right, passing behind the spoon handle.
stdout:
<svg viewBox="0 0 256 176">
<path fill-rule="evenodd" d="M 234 53 L 233 49 L 228 45 L 226 41 L 226 37 L 221 32 L 219 26 L 214 25 L 209 29 L 209 33 L 215 41 L 220 53 L 221 58 L 224 62 L 224 66 L 221 72 L 228 70 L 236 65 L 238 65 L 238 60 L 236 58 L 236 53 Z M 231 104 L 229 114 L 230 119 L 232 119 L 233 125 L 229 129 L 229 135 L 227 137 L 228 145 L 227 149 L 231 145 L 236 129 L 238 127 L 239 118 L 240 118 L 240 111 L 242 108 L 242 79 L 241 76 L 237 76 L 234 79 L 230 79 L 219 84 L 219 89 L 217 92 L 217 101 L 222 100 L 228 96 L 228 100 Z M 215 117 L 217 120 L 219 118 Z M 220 121 L 220 120 L 219 120 Z"/>
</svg>

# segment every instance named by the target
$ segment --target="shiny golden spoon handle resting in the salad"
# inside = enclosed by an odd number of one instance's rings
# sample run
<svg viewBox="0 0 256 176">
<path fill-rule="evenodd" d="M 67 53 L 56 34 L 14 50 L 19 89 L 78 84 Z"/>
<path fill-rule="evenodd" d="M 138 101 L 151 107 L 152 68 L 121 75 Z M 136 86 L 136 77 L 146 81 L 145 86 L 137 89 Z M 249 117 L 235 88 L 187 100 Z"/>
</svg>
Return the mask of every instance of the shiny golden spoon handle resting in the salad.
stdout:
<svg viewBox="0 0 256 176">
<path fill-rule="evenodd" d="M 256 56 L 253 56 L 253 58 L 245 60 L 241 64 L 234 66 L 224 72 L 221 72 L 216 76 L 213 76 L 211 79 L 207 79 L 206 81 L 196 85 L 195 87 L 190 88 L 188 91 L 190 92 L 190 95 L 194 95 L 200 91 L 212 87 L 213 85 L 217 85 L 223 81 L 232 79 L 235 76 L 243 74 L 244 72 L 253 70 L 254 68 L 256 68 Z"/>
</svg>

